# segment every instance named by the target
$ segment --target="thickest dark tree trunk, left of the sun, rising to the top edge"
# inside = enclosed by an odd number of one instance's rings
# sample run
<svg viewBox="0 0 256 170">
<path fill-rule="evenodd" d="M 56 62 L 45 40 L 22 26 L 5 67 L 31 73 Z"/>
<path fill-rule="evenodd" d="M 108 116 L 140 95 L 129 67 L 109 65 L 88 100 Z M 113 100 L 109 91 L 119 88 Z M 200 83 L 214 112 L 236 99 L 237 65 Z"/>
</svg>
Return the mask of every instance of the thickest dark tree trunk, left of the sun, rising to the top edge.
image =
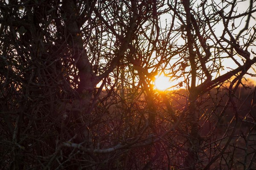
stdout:
<svg viewBox="0 0 256 170">
<path fill-rule="evenodd" d="M 87 142 L 90 143 L 86 136 L 90 136 L 88 132 L 89 119 L 87 114 L 90 109 L 90 100 L 92 98 L 93 90 L 96 87 L 96 75 L 93 73 L 90 61 L 87 53 L 84 50 L 84 42 L 82 39 L 80 25 L 78 22 L 79 9 L 73 0 L 64 0 L 62 11 L 65 16 L 65 26 L 67 37 L 67 45 L 70 46 L 70 52 L 73 53 L 73 57 L 76 61 L 76 67 L 78 68 L 79 84 L 78 93 L 80 95 L 80 102 L 73 103 L 76 113 L 73 113 L 76 121 L 75 132 L 77 133 L 76 143 Z"/>
</svg>

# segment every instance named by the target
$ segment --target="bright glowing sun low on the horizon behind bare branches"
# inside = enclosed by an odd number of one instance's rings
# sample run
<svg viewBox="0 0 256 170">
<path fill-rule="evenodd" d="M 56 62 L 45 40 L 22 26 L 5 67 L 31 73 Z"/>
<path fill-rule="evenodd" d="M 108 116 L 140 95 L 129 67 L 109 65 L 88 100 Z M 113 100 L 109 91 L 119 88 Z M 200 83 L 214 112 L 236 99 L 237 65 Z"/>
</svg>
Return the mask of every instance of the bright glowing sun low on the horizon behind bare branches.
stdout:
<svg viewBox="0 0 256 170">
<path fill-rule="evenodd" d="M 160 74 L 154 80 L 154 86 L 157 90 L 165 91 L 166 89 L 171 88 L 173 86 L 173 83 L 170 82 L 169 77 L 166 77 L 165 75 Z"/>
</svg>

